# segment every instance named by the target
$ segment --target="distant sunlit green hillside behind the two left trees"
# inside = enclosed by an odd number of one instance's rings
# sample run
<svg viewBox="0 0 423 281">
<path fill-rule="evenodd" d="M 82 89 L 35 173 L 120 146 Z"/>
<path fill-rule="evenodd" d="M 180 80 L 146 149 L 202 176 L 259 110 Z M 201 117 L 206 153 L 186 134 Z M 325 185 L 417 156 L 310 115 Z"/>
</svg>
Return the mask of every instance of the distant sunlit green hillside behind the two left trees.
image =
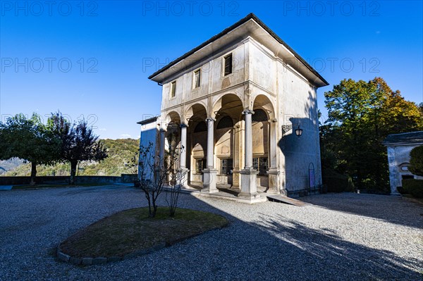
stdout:
<svg viewBox="0 0 423 281">
<path fill-rule="evenodd" d="M 133 157 L 138 154 L 139 139 L 102 139 L 109 157 L 100 163 L 82 161 L 79 164 L 78 175 L 116 175 L 136 173 L 136 168 L 130 168 Z M 129 164 L 129 166 L 128 166 Z M 0 165 L 1 166 L 1 165 Z M 55 166 L 37 166 L 37 175 L 70 175 L 71 165 L 59 163 Z M 26 163 L 8 171 L 8 176 L 29 176 L 31 164 Z"/>
</svg>

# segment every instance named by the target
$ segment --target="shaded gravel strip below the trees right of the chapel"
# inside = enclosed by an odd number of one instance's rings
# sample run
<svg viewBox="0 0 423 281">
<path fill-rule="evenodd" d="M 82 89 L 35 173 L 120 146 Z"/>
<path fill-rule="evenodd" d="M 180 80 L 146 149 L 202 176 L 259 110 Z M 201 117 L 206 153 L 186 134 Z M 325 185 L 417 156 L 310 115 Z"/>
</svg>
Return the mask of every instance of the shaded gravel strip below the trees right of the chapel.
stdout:
<svg viewBox="0 0 423 281">
<path fill-rule="evenodd" d="M 397 225 L 418 229 L 423 227 L 422 206 L 405 201 L 400 196 L 344 192 L 340 194 L 317 194 L 315 196 L 302 197 L 301 200 L 334 211 L 376 218 Z"/>
</svg>

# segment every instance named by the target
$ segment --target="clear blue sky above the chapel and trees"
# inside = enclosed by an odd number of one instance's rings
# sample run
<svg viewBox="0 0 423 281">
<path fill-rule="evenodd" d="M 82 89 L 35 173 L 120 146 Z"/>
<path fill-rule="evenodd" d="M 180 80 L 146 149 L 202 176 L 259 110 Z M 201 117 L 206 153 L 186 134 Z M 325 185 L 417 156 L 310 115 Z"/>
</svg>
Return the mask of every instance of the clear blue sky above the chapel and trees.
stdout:
<svg viewBox="0 0 423 281">
<path fill-rule="evenodd" d="M 255 13 L 331 84 L 383 77 L 423 101 L 422 1 L 0 1 L 0 115 L 60 110 L 101 138 L 160 111 L 147 77 Z M 323 117 L 323 120 L 324 120 Z"/>
</svg>

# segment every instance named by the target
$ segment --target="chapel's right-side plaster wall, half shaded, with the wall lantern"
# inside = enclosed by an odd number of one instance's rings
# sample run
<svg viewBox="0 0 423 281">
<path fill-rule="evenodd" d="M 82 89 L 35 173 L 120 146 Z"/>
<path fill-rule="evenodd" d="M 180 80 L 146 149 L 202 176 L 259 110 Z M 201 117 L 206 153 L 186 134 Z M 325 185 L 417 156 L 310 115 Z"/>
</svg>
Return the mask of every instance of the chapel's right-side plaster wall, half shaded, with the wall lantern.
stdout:
<svg viewBox="0 0 423 281">
<path fill-rule="evenodd" d="M 309 166 L 314 166 L 316 185 L 321 183 L 317 94 L 295 70 L 278 63 L 278 125 L 293 125 L 293 130 L 278 140 L 283 154 L 281 170 L 285 171 L 282 181 L 289 193 L 309 188 Z M 301 137 L 295 135 L 298 125 L 303 130 Z"/>
</svg>

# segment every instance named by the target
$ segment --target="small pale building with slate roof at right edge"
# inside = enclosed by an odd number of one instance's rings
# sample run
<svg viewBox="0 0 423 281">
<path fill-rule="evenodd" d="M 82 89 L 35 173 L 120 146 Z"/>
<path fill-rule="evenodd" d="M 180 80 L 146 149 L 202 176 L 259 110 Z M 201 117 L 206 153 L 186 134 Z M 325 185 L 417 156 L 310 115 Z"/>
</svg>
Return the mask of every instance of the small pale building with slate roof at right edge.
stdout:
<svg viewBox="0 0 423 281">
<path fill-rule="evenodd" d="M 382 144 L 388 149 L 391 194 L 399 194 L 397 187 L 402 187 L 405 179 L 423 180 L 423 177 L 413 175 L 408 170 L 408 166 L 410 166 L 410 151 L 417 146 L 423 145 L 423 131 L 388 135 Z"/>
</svg>

